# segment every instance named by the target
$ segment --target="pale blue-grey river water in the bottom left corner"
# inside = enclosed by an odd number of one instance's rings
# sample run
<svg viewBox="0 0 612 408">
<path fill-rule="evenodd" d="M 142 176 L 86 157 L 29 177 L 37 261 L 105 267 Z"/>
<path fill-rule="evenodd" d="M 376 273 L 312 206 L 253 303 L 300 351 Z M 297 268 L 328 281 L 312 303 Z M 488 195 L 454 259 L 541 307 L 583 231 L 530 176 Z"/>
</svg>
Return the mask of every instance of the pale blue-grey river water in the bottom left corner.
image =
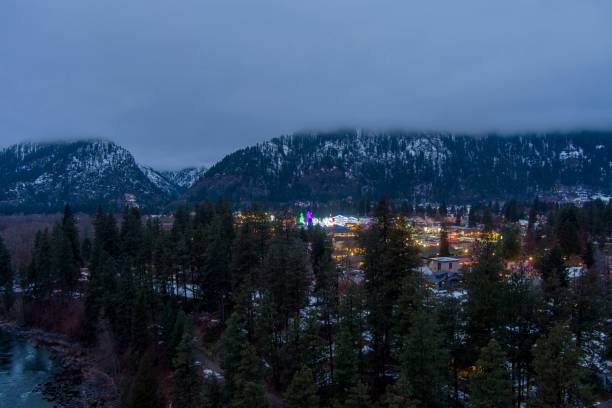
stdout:
<svg viewBox="0 0 612 408">
<path fill-rule="evenodd" d="M 53 361 L 43 348 L 0 330 L 0 408 L 51 407 L 36 389 L 53 370 Z"/>
</svg>

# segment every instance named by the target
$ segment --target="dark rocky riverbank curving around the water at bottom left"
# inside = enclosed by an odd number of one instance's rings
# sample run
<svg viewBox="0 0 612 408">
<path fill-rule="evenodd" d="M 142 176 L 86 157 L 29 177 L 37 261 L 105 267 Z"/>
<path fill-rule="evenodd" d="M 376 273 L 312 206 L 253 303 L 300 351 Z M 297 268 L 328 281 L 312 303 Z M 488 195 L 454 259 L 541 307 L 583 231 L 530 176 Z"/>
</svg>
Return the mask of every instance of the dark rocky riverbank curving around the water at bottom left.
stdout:
<svg viewBox="0 0 612 408">
<path fill-rule="evenodd" d="M 37 347 L 45 347 L 58 367 L 53 378 L 38 386 L 52 406 L 62 408 L 118 407 L 118 392 L 112 378 L 97 369 L 87 350 L 65 336 L 0 321 L 0 330 L 22 336 Z"/>
</svg>

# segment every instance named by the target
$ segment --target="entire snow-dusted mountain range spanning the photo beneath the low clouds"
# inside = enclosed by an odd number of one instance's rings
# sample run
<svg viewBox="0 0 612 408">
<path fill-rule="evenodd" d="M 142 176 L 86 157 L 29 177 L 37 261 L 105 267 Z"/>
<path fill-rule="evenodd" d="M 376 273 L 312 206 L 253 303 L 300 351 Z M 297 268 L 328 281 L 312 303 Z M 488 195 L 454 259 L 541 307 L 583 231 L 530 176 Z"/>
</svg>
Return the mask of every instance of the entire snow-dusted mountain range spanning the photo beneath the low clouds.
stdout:
<svg viewBox="0 0 612 408">
<path fill-rule="evenodd" d="M 252 201 L 415 203 L 533 198 L 556 189 L 612 194 L 612 132 L 463 135 L 342 129 L 280 136 L 210 169 L 158 171 L 104 139 L 24 142 L 0 150 L 0 212 L 52 212 L 65 202 L 147 211 L 224 196 Z"/>
</svg>

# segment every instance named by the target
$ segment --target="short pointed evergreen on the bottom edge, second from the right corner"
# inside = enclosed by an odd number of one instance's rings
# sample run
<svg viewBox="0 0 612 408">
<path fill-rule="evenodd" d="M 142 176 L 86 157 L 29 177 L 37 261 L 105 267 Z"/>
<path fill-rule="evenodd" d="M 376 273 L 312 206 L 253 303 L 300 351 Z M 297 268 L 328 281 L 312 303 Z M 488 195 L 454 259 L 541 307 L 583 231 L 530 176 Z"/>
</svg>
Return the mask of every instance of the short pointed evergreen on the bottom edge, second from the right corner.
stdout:
<svg viewBox="0 0 612 408">
<path fill-rule="evenodd" d="M 511 408 L 512 383 L 506 370 L 506 356 L 492 339 L 480 351 L 477 371 L 470 377 L 470 406 L 474 408 Z"/>
</svg>

